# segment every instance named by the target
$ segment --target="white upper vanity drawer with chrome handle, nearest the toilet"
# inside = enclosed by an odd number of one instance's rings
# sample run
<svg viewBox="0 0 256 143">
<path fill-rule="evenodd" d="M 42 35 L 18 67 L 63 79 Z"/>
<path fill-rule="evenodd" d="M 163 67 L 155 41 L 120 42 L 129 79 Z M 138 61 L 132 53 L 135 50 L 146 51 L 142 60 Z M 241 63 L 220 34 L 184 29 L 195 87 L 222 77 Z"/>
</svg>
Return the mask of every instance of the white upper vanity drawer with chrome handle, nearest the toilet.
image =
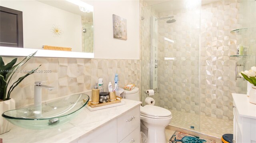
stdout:
<svg viewBox="0 0 256 143">
<path fill-rule="evenodd" d="M 117 141 L 120 142 L 137 127 L 140 127 L 140 106 L 117 118 Z"/>
</svg>

